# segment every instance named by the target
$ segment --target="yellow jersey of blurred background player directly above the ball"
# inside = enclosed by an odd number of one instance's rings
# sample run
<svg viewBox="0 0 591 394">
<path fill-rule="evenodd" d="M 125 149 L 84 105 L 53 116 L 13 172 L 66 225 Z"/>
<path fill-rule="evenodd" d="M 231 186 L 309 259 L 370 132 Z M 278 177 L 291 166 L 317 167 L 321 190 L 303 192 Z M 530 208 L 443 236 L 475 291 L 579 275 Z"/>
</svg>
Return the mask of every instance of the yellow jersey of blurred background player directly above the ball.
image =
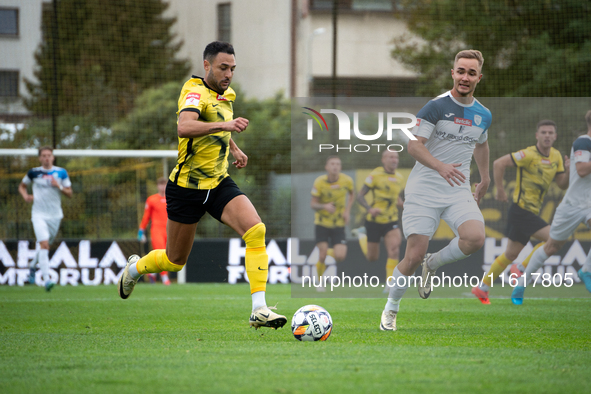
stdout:
<svg viewBox="0 0 591 394">
<path fill-rule="evenodd" d="M 353 193 L 353 179 L 349 175 L 339 174 L 336 182 L 329 182 L 328 175 L 321 175 L 314 181 L 312 186 L 312 196 L 318 197 L 321 204 L 333 202 L 335 205 L 334 213 L 321 209 L 316 211 L 314 224 L 327 227 L 345 227 L 345 206 L 347 203 L 347 194 Z"/>
</svg>

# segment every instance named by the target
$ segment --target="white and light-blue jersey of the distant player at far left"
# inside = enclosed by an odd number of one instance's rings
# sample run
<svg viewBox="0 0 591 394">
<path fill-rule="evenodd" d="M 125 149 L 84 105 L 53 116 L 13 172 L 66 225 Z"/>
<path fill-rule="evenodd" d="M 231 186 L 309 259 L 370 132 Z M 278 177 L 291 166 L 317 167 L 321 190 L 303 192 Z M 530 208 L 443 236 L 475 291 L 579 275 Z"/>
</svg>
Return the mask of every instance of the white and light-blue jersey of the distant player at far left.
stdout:
<svg viewBox="0 0 591 394">
<path fill-rule="evenodd" d="M 22 182 L 26 185 L 33 184 L 33 218 L 61 219 L 64 217 L 62 211 L 62 200 L 60 189 L 51 185 L 55 179 L 63 187 L 71 187 L 72 182 L 68 172 L 61 167 L 51 167 L 46 170 L 43 167 L 35 167 L 27 172 Z"/>
</svg>

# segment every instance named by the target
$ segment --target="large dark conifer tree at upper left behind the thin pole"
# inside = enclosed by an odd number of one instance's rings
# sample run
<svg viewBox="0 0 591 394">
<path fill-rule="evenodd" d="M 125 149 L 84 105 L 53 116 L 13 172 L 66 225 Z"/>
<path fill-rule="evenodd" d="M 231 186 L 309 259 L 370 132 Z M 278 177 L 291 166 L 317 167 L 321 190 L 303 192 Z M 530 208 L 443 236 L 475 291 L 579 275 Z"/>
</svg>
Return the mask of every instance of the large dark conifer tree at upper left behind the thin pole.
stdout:
<svg viewBox="0 0 591 394">
<path fill-rule="evenodd" d="M 187 60 L 176 59 L 175 23 L 161 0 L 61 0 L 57 14 L 58 114 L 90 116 L 108 125 L 128 113 L 146 88 L 181 80 Z M 49 115 L 53 94 L 53 8 L 43 12 L 35 57 L 37 81 L 26 81 L 28 108 Z"/>
</svg>

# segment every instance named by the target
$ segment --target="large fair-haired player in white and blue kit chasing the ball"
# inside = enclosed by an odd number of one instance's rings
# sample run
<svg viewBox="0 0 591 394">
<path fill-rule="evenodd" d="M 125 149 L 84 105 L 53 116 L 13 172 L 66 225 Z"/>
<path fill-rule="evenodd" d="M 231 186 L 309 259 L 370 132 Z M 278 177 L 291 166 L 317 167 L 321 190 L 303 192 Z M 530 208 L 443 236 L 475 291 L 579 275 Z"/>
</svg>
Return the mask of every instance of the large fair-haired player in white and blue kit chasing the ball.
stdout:
<svg viewBox="0 0 591 394">
<path fill-rule="evenodd" d="M 422 298 L 431 293 L 431 277 L 437 268 L 468 257 L 484 244 L 484 218 L 478 203 L 490 184 L 487 131 L 491 113 L 473 96 L 482 78 L 484 59 L 480 51 L 456 55 L 451 70 L 453 88 L 429 101 L 417 114 L 417 125 L 408 152 L 417 160 L 406 183 L 402 227 L 406 253 L 389 281 L 388 302 L 380 329 L 396 330 L 400 300 L 423 262 Z M 480 183 L 472 193 L 470 163 L 474 155 Z M 429 240 L 440 219 L 449 224 L 456 238 L 435 254 L 426 254 Z"/>
</svg>

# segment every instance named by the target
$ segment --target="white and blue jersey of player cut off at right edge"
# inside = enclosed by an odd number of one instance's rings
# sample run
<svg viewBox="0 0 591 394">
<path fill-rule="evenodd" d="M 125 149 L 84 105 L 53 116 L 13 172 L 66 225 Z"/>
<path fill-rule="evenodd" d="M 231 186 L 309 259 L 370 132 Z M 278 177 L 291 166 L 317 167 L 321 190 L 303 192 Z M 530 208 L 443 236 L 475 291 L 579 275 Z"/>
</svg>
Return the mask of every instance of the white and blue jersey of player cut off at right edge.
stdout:
<svg viewBox="0 0 591 394">
<path fill-rule="evenodd" d="M 591 137 L 582 135 L 575 140 L 570 151 L 570 180 L 562 201 L 573 207 L 591 208 L 591 174 L 580 177 L 576 163 L 591 161 Z"/>
</svg>

